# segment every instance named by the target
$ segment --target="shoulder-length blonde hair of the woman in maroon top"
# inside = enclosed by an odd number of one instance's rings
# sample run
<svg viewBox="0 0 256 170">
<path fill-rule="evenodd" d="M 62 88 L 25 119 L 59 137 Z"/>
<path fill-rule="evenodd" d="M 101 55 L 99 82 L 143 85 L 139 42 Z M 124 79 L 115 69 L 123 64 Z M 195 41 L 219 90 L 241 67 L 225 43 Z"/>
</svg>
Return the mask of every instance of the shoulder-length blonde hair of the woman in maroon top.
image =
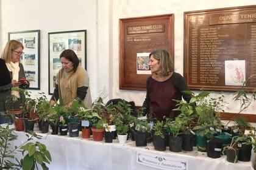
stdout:
<svg viewBox="0 0 256 170">
<path fill-rule="evenodd" d="M 159 69 L 158 73 L 162 74 L 163 76 L 169 75 L 169 73 L 174 71 L 173 62 L 171 57 L 166 50 L 155 50 L 149 54 L 149 57 L 153 56 L 155 60 L 158 60 Z"/>
</svg>

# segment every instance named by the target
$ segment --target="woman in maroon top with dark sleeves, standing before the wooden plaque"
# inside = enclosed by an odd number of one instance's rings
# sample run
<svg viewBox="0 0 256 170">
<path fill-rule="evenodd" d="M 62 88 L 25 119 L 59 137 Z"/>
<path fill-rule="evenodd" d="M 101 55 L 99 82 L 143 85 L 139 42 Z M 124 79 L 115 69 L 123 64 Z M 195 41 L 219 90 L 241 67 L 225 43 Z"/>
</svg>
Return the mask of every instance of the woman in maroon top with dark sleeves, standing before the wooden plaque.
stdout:
<svg viewBox="0 0 256 170">
<path fill-rule="evenodd" d="M 143 103 L 145 112 L 152 107 L 153 115 L 157 120 L 163 117 L 174 119 L 179 112 L 174 112 L 176 101 L 190 101 L 191 95 L 182 91 L 189 90 L 182 75 L 174 72 L 169 53 L 166 50 L 155 50 L 149 54 L 149 67 L 152 75 L 148 78 L 146 87 L 147 94 Z"/>
</svg>

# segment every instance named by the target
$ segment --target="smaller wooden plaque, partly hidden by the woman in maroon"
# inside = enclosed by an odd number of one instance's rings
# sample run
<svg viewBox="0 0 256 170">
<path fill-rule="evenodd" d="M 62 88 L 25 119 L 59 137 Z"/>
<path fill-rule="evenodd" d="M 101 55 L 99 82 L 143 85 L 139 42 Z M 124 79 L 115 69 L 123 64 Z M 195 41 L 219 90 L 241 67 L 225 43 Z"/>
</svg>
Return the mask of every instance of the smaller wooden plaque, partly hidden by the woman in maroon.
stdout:
<svg viewBox="0 0 256 170">
<path fill-rule="evenodd" d="M 174 57 L 174 15 L 119 19 L 119 89 L 146 90 L 149 53 L 167 50 Z"/>
</svg>

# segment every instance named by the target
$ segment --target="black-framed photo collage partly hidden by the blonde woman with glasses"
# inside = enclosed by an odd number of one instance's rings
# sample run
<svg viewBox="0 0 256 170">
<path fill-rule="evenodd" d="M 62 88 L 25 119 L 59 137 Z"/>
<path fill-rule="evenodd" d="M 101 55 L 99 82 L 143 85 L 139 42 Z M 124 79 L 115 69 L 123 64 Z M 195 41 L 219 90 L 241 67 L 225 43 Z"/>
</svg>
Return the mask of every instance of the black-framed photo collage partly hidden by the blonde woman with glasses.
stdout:
<svg viewBox="0 0 256 170">
<path fill-rule="evenodd" d="M 11 39 L 20 41 L 24 46 L 20 63 L 30 83 L 29 89 L 40 90 L 40 30 L 9 32 L 8 40 Z"/>
</svg>

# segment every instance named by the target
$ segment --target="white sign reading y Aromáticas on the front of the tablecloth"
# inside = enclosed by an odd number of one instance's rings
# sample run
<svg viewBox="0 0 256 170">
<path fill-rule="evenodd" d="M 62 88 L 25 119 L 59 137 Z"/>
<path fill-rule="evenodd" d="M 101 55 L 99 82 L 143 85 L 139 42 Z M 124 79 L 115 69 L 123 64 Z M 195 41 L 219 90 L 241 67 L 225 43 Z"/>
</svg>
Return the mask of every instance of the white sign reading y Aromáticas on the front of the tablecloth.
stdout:
<svg viewBox="0 0 256 170">
<path fill-rule="evenodd" d="M 166 170 L 188 170 L 188 160 L 137 151 L 137 163 Z"/>
</svg>

